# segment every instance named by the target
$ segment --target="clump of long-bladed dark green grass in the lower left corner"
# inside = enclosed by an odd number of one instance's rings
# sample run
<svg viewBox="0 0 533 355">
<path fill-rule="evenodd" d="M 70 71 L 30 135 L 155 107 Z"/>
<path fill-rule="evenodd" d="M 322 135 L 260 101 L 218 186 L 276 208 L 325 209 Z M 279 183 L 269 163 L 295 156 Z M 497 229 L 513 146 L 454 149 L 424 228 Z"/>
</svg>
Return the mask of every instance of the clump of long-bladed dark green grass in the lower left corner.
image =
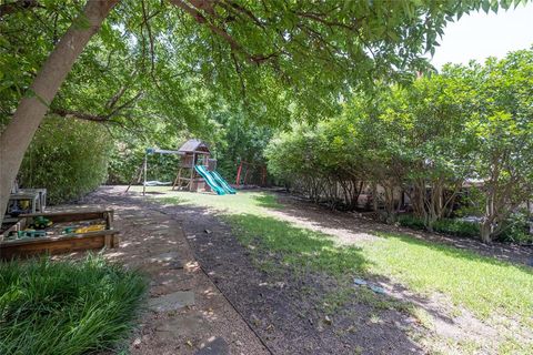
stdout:
<svg viewBox="0 0 533 355">
<path fill-rule="evenodd" d="M 100 256 L 0 264 L 0 354 L 113 349 L 134 327 L 147 282 Z"/>
</svg>

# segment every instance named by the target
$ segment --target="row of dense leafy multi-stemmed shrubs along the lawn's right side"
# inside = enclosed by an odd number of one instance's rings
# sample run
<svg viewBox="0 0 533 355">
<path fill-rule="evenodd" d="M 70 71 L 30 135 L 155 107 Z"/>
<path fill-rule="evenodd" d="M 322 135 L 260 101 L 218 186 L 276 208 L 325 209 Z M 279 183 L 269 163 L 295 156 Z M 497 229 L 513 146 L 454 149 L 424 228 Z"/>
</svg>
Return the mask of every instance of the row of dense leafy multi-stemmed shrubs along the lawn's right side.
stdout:
<svg viewBox="0 0 533 355">
<path fill-rule="evenodd" d="M 315 200 L 338 199 L 340 185 L 351 207 L 356 183 L 379 184 L 389 217 L 404 191 L 430 230 L 475 182 L 470 212 L 482 219 L 482 239 L 505 233 L 533 197 L 533 48 L 380 89 L 273 140 L 270 171 Z"/>
</svg>

